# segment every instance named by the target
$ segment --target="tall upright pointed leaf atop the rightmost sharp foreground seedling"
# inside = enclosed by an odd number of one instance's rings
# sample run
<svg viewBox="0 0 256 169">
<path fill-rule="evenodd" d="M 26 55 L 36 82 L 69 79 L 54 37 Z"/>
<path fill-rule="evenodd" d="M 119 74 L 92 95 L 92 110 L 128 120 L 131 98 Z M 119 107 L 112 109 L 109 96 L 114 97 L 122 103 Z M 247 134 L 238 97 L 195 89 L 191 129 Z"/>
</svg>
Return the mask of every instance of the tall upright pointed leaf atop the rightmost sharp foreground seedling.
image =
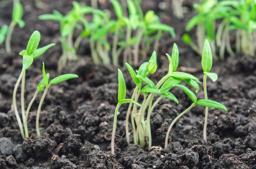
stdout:
<svg viewBox="0 0 256 169">
<path fill-rule="evenodd" d="M 204 72 L 209 72 L 212 68 L 212 51 L 208 40 L 204 42 L 204 50 L 202 56 L 202 68 Z"/>
</svg>

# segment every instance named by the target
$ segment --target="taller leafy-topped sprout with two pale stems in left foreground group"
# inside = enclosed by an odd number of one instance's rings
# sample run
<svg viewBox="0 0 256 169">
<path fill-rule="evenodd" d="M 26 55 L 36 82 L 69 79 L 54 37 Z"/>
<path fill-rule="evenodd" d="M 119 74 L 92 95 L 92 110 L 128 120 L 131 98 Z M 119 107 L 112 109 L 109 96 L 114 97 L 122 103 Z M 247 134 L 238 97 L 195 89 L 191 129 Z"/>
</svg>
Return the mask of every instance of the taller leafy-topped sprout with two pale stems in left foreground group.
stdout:
<svg viewBox="0 0 256 169">
<path fill-rule="evenodd" d="M 13 90 L 13 97 L 12 97 L 12 102 L 13 102 L 13 107 L 14 107 L 14 112 L 15 112 L 15 116 L 17 118 L 17 122 L 19 124 L 20 127 L 20 133 L 22 135 L 22 138 L 25 138 L 24 135 L 24 130 L 23 130 L 23 125 L 22 122 L 20 120 L 20 115 L 18 113 L 17 110 L 17 103 L 16 103 L 16 94 L 17 94 L 17 88 L 21 82 L 21 96 L 20 96 L 20 101 L 21 101 L 21 114 L 22 114 L 22 119 L 23 119 L 23 124 L 25 124 L 26 120 L 25 120 L 25 105 L 24 105 L 24 90 L 25 90 L 25 75 L 26 75 L 26 69 L 28 69 L 30 67 L 30 65 L 32 65 L 33 60 L 39 56 L 41 56 L 42 54 L 44 54 L 49 48 L 51 48 L 52 46 L 54 46 L 55 44 L 49 44 L 46 45 L 42 48 L 37 48 L 38 44 L 40 41 L 40 33 L 39 31 L 34 31 L 33 34 L 31 35 L 27 48 L 26 50 L 23 50 L 20 52 L 20 55 L 23 56 L 23 67 L 20 73 L 20 76 L 17 79 L 16 85 L 14 87 Z M 25 128 L 25 131 L 27 129 Z"/>
</svg>

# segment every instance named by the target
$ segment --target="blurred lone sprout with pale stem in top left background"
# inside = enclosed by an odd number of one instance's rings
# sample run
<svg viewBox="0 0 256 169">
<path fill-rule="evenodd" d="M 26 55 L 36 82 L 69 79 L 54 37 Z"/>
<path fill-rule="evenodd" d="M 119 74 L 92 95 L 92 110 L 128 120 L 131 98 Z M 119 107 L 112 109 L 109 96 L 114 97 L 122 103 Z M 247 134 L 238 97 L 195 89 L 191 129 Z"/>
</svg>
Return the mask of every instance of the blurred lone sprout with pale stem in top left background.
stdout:
<svg viewBox="0 0 256 169">
<path fill-rule="evenodd" d="M 15 28 L 15 25 L 19 25 L 20 28 L 23 28 L 25 26 L 25 22 L 22 20 L 23 16 L 23 6 L 21 3 L 17 2 L 14 3 L 13 13 L 12 13 L 12 22 L 9 25 L 9 30 L 6 35 L 6 52 L 10 54 L 12 52 L 11 48 L 11 39 L 12 39 L 12 32 Z"/>
</svg>

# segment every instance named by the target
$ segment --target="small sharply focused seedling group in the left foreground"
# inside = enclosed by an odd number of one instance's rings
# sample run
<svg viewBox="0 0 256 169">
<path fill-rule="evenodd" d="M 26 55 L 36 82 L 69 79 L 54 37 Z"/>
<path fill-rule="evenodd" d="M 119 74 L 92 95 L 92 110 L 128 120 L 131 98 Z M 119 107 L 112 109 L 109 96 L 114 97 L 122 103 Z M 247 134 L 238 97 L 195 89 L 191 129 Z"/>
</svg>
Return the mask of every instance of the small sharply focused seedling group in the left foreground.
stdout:
<svg viewBox="0 0 256 169">
<path fill-rule="evenodd" d="M 39 106 L 38 106 L 37 117 L 36 117 L 36 131 L 37 131 L 37 135 L 40 135 L 39 115 L 40 115 L 42 104 L 44 102 L 44 98 L 47 94 L 47 91 L 48 91 L 49 87 L 53 84 L 57 84 L 57 83 L 66 81 L 68 79 L 73 79 L 73 78 L 78 77 L 75 74 L 65 74 L 65 75 L 55 77 L 54 79 L 52 79 L 49 82 L 49 76 L 50 75 L 49 75 L 49 73 L 48 74 L 45 73 L 44 63 L 43 63 L 43 76 L 44 76 L 44 78 L 38 84 L 38 87 L 36 88 L 35 94 L 34 94 L 32 100 L 30 101 L 26 111 L 25 111 L 24 91 L 25 91 L 26 70 L 32 65 L 34 59 L 36 59 L 39 56 L 41 56 L 42 54 L 44 54 L 49 48 L 51 48 L 52 46 L 55 45 L 54 43 L 52 43 L 52 44 L 46 45 L 42 48 L 38 48 L 38 45 L 39 45 L 39 42 L 40 42 L 40 37 L 41 37 L 41 35 L 40 35 L 39 31 L 34 31 L 34 33 L 31 35 L 31 37 L 29 39 L 26 50 L 23 50 L 23 51 L 20 52 L 20 55 L 23 56 L 23 67 L 22 67 L 22 70 L 20 72 L 20 76 L 17 79 L 16 85 L 15 85 L 14 90 L 13 90 L 12 101 L 13 101 L 14 112 L 15 112 L 15 116 L 17 118 L 17 122 L 18 122 L 18 125 L 19 125 L 19 128 L 20 128 L 20 134 L 21 134 L 23 139 L 25 137 L 29 137 L 28 127 L 27 127 L 27 119 L 28 119 L 30 108 L 31 108 L 32 104 L 34 103 L 38 93 L 44 90 L 44 94 L 43 94 L 43 96 L 41 98 L 41 101 L 39 103 Z M 17 101 L 16 101 L 17 89 L 19 87 L 20 82 L 21 82 L 20 102 L 21 102 L 21 115 L 22 115 L 23 123 L 20 120 L 20 115 L 18 113 Z M 25 130 L 25 132 L 24 132 L 24 130 Z"/>
</svg>

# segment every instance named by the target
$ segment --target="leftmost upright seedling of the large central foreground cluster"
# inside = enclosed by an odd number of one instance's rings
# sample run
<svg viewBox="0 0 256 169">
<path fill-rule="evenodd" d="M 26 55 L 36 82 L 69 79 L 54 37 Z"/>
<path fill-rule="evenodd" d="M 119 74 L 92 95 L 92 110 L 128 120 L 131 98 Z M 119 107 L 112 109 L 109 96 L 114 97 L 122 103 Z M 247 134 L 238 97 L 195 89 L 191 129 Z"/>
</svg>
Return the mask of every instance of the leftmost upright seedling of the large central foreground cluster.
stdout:
<svg viewBox="0 0 256 169">
<path fill-rule="evenodd" d="M 119 110 L 119 107 L 124 103 L 134 103 L 137 106 L 141 106 L 139 103 L 137 103 L 134 100 L 131 99 L 125 99 L 126 96 L 126 87 L 125 87 L 125 79 L 122 74 L 122 71 L 118 69 L 118 103 L 116 105 L 116 110 L 114 114 L 114 122 L 113 122 L 113 132 L 112 132 L 112 138 L 111 138 L 111 152 L 112 154 L 115 154 L 114 149 L 114 141 L 115 141 L 115 133 L 116 133 L 116 121 L 117 121 L 117 113 Z"/>
</svg>

